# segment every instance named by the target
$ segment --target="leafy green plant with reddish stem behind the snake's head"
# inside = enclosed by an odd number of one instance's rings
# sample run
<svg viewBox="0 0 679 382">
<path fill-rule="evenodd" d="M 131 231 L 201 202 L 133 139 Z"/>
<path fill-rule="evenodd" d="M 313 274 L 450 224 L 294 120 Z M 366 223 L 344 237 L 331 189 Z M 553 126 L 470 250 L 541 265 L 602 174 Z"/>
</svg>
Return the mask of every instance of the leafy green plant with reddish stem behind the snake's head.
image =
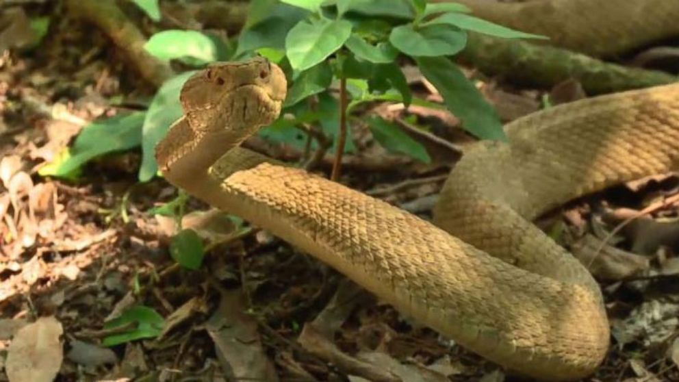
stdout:
<svg viewBox="0 0 679 382">
<path fill-rule="evenodd" d="M 135 2 L 154 20 L 159 17 L 157 0 Z M 345 139 L 349 136 L 346 121 L 360 105 L 390 101 L 443 107 L 413 97 L 397 63 L 401 56 L 419 66 L 465 129 L 478 138 L 505 139 L 496 111 L 450 56 L 464 49 L 468 31 L 501 38 L 541 36 L 489 23 L 469 12 L 457 3 L 425 0 L 253 0 L 238 40 L 168 30 L 151 36 L 145 48 L 161 60 L 181 60 L 195 67 L 255 54 L 266 56 L 283 68 L 292 85 L 281 118 L 262 129 L 261 136 L 299 148 L 328 149 L 339 164 L 342 153 L 354 150 L 351 140 Z M 92 157 L 141 144 L 139 180 L 154 177 L 157 164 L 153 149 L 183 113 L 179 91 L 192 73 L 166 81 L 146 112 L 86 127 L 69 153 L 43 168 L 41 174 L 73 177 Z M 332 95 L 333 84 L 339 84 L 340 102 Z M 426 149 L 398 126 L 380 117 L 372 117 L 368 123 L 376 141 L 387 150 L 422 162 L 430 160 Z M 309 126 L 318 127 L 318 131 L 309 130 Z M 314 138 L 305 131 L 317 134 Z M 319 137 L 328 138 L 332 144 Z M 337 169 L 333 170 L 334 177 Z"/>
</svg>

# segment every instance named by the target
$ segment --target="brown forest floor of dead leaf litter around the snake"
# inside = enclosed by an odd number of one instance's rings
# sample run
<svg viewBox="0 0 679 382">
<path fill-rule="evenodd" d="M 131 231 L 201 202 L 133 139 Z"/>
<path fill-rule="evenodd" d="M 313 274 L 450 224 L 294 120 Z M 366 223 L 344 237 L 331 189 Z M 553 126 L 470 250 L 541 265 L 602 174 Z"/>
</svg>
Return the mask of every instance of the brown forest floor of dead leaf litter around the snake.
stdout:
<svg viewBox="0 0 679 382">
<path fill-rule="evenodd" d="M 0 370 L 12 361 L 12 336 L 21 328 L 36 330 L 26 325 L 51 316 L 57 324 L 46 327 L 63 331 L 64 346 L 42 357 L 63 353 L 57 381 L 518 379 L 266 231 L 194 199 L 184 227 L 220 244 L 200 269 L 180 268 L 168 251 L 175 221 L 149 213 L 177 190 L 160 177 L 138 182 L 138 149 L 98 158 L 75 179 L 38 175 L 84 125 L 111 115 L 121 99 L 128 108 L 148 105 L 154 88 L 93 27 L 65 18 L 49 2 L 24 10 L 54 16 L 38 48 L 0 49 Z M 21 37 L 17 33 L 14 38 Z M 439 99 L 413 66 L 404 62 L 403 68 L 419 97 Z M 520 88 L 466 69 L 504 121 L 541 109 L 547 98 L 585 97 L 575 81 Z M 356 123 L 357 152 L 342 183 L 431 219 L 437 192 L 458 159 L 431 136 L 459 145 L 472 138 L 440 110 L 375 103 L 361 112 L 415 116 L 430 130 L 429 137 L 413 138 L 433 160 L 422 164 L 386 153 Z M 248 144 L 273 157 L 295 155 L 261 138 Z M 328 176 L 330 166 L 320 162 L 315 172 Z M 658 175 L 573 201 L 537 222 L 583 261 L 595 259 L 592 272 L 604 292 L 613 340 L 604 364 L 585 381 L 679 380 L 678 208 L 662 203 L 678 191 L 679 178 Z M 649 214 L 607 237 L 649 206 Z M 157 311 L 164 326 L 151 328 L 152 317 L 138 331 L 104 327 L 138 306 Z M 144 330 L 153 337 L 102 345 L 112 335 Z M 36 362 L 36 369 L 45 365 Z M 0 380 L 7 380 L 4 372 Z"/>
</svg>

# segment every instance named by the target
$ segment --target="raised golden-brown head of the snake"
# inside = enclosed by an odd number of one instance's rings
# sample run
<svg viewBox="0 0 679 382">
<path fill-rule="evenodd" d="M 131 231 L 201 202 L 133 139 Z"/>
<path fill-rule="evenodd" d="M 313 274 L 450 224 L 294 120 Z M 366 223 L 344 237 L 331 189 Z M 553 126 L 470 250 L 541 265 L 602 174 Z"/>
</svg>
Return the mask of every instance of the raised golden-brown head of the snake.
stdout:
<svg viewBox="0 0 679 382">
<path fill-rule="evenodd" d="M 184 84 L 180 100 L 194 131 L 240 129 L 249 134 L 278 118 L 286 92 L 281 68 L 256 57 L 213 64 L 196 73 Z"/>
</svg>

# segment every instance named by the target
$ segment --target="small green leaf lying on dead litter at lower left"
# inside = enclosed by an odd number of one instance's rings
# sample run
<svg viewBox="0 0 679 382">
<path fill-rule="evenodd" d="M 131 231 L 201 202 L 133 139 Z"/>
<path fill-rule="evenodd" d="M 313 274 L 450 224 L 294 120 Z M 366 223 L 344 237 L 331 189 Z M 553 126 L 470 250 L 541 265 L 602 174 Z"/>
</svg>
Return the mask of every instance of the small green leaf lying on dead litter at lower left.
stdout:
<svg viewBox="0 0 679 382">
<path fill-rule="evenodd" d="M 150 307 L 136 305 L 124 311 L 120 317 L 106 322 L 104 329 L 112 330 L 128 327 L 131 324 L 136 324 L 136 327 L 123 333 L 109 335 L 104 338 L 103 346 L 116 346 L 142 338 L 155 338 L 162 332 L 165 319 Z"/>
</svg>

